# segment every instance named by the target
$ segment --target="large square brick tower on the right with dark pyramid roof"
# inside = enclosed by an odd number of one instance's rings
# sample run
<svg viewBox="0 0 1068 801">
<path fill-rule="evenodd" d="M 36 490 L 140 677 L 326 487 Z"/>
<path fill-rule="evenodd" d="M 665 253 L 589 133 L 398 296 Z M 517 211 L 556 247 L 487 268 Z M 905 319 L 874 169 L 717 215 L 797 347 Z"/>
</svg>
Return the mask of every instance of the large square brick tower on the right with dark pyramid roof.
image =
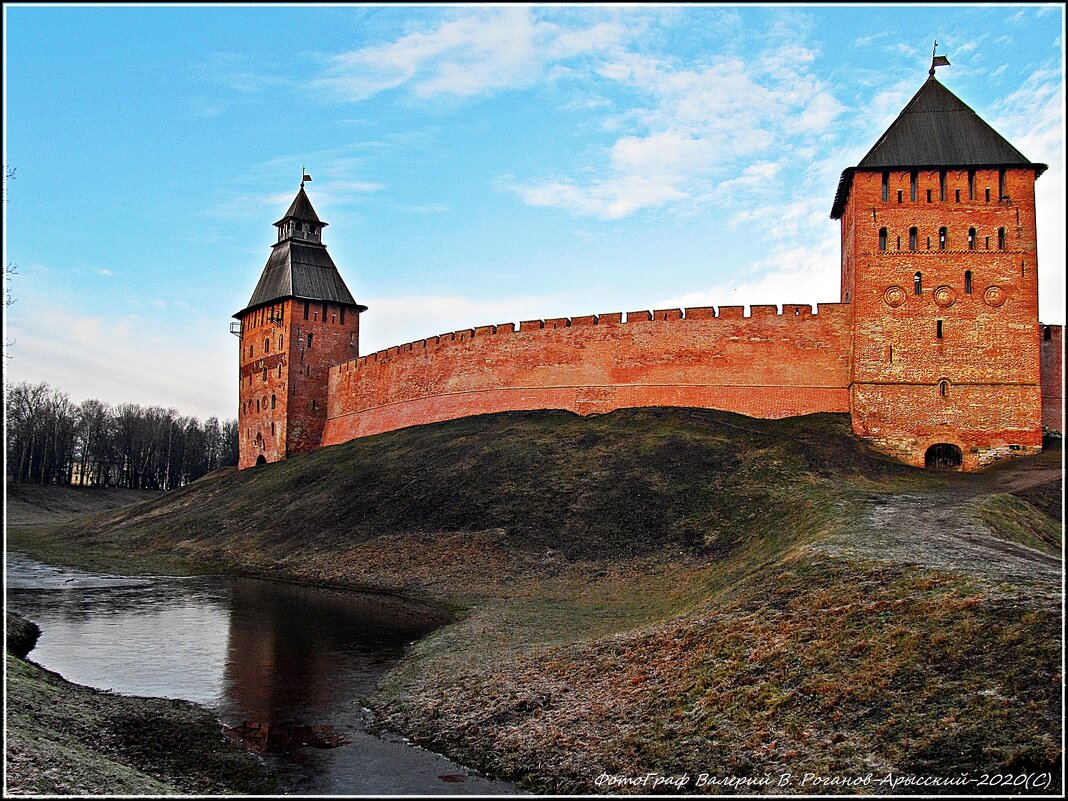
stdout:
<svg viewBox="0 0 1068 801">
<path fill-rule="evenodd" d="M 918 467 L 1041 449 L 1032 163 L 930 77 L 857 167 L 842 220 L 853 430 Z"/>
</svg>

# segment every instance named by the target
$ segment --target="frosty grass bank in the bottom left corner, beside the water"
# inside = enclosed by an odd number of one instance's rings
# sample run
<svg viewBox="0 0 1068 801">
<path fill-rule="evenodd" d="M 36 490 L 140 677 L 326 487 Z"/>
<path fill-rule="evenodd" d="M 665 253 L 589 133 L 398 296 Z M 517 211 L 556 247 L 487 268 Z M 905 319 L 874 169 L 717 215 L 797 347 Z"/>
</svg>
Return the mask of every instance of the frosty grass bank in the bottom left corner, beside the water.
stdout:
<svg viewBox="0 0 1068 801">
<path fill-rule="evenodd" d="M 227 739 L 209 710 L 67 681 L 25 658 L 32 654 L 35 624 L 10 612 L 6 617 L 6 794 L 277 790 L 263 760 Z"/>
</svg>

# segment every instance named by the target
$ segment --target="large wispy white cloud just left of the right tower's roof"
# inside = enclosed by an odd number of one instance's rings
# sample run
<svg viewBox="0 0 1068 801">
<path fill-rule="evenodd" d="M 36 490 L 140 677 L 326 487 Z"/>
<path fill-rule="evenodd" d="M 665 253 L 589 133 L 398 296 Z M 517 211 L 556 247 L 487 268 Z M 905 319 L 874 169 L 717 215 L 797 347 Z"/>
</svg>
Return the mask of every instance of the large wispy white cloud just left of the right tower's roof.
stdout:
<svg viewBox="0 0 1068 801">
<path fill-rule="evenodd" d="M 621 136 L 603 166 L 582 171 L 593 177 L 528 178 L 511 188 L 531 205 L 612 220 L 679 202 L 716 202 L 718 176 L 741 173 L 741 184 L 723 182 L 727 189 L 755 187 L 749 161 L 767 164 L 772 148 L 826 136 L 845 110 L 813 74 L 816 58 L 815 49 L 774 32 L 749 60 L 724 56 L 679 65 L 621 48 L 597 74 L 640 100 L 606 119 Z"/>
</svg>

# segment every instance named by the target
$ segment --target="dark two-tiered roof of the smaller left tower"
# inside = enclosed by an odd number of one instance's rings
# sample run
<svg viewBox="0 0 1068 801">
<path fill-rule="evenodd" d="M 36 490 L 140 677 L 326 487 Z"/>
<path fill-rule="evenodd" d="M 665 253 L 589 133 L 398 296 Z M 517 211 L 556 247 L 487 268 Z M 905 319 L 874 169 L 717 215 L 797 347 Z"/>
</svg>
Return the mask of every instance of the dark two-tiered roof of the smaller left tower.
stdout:
<svg viewBox="0 0 1068 801">
<path fill-rule="evenodd" d="M 319 225 L 327 224 L 316 216 L 303 185 L 285 216 L 274 224 L 280 225 L 290 218 Z M 303 240 L 296 236 L 281 239 L 273 246 L 248 305 L 234 316 L 240 317 L 250 309 L 285 298 L 325 300 L 355 307 L 361 312 L 366 310 L 365 305 L 356 302 L 345 286 L 327 247 L 319 241 Z"/>
</svg>

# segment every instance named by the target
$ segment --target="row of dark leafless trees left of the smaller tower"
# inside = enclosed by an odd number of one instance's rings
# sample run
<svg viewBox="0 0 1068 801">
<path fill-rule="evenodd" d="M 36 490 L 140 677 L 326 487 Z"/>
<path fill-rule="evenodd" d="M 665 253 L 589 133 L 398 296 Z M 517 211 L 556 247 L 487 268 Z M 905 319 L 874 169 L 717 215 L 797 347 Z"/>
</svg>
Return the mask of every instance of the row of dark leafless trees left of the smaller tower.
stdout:
<svg viewBox="0 0 1068 801">
<path fill-rule="evenodd" d="M 7 387 L 7 476 L 33 484 L 172 489 L 237 464 L 237 421 L 158 406 L 72 403 L 47 383 Z"/>
</svg>

